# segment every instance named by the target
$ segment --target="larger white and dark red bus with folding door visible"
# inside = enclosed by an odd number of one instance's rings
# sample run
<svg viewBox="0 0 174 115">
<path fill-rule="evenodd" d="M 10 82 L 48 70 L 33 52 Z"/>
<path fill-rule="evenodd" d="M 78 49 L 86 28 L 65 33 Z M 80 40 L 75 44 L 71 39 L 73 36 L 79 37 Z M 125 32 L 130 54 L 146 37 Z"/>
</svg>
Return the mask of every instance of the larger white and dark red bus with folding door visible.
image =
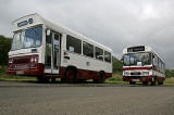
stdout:
<svg viewBox="0 0 174 115">
<path fill-rule="evenodd" d="M 13 22 L 8 73 L 36 76 L 39 81 L 94 79 L 112 76 L 112 50 L 39 14 Z"/>
</svg>

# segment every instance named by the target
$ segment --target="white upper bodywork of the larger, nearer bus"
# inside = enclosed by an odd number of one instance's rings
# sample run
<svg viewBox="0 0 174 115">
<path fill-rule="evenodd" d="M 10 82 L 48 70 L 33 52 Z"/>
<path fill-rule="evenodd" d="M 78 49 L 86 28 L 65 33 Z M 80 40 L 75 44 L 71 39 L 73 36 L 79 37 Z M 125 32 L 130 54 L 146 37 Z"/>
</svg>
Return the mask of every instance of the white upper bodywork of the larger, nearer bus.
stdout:
<svg viewBox="0 0 174 115">
<path fill-rule="evenodd" d="M 23 22 L 23 21 L 27 21 L 28 18 L 33 18 L 34 23 L 33 24 L 28 24 L 26 26 L 23 27 L 17 27 L 17 23 Z M 20 29 L 26 29 L 27 27 L 32 27 L 32 26 L 36 26 L 36 25 L 42 25 L 44 28 L 44 33 L 42 33 L 42 44 L 41 47 L 37 48 L 37 54 L 39 54 L 39 63 L 45 64 L 45 48 L 46 48 L 46 29 L 52 29 L 59 34 L 62 35 L 61 38 L 61 66 L 66 67 L 70 65 L 76 66 L 79 69 L 89 69 L 89 71 L 104 71 L 105 73 L 112 73 L 112 60 L 111 63 L 104 62 L 104 61 L 99 61 L 96 60 L 95 58 L 88 58 L 85 56 L 83 54 L 76 54 L 76 53 L 72 53 L 72 52 L 67 52 L 66 50 L 66 35 L 71 35 L 75 38 L 80 39 L 82 41 L 87 41 L 91 44 L 94 44 L 95 47 L 99 47 L 108 52 L 111 52 L 112 55 L 112 50 L 101 43 L 98 43 L 80 34 L 77 34 L 76 31 L 73 31 L 66 27 L 63 27 L 62 25 L 55 25 L 47 20 L 45 20 L 44 17 L 41 17 L 38 14 L 32 14 L 32 15 L 27 15 L 24 17 L 21 17 L 16 21 L 13 22 L 13 31 L 20 30 Z M 70 60 L 64 59 L 64 52 L 67 52 L 67 56 L 70 56 Z M 21 49 L 21 50 L 16 50 L 16 51 L 10 51 L 9 52 L 9 56 L 13 58 L 13 56 L 21 56 L 21 55 L 30 55 L 34 54 L 30 52 L 30 49 Z M 86 63 L 89 63 L 89 66 L 87 66 Z"/>
</svg>

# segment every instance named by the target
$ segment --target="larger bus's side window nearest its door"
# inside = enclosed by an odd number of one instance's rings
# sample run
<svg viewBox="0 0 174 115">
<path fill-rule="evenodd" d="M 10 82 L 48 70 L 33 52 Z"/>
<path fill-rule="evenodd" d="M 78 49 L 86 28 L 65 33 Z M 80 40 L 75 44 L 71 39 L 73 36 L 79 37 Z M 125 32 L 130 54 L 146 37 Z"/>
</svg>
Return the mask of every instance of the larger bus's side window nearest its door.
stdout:
<svg viewBox="0 0 174 115">
<path fill-rule="evenodd" d="M 82 54 L 82 40 L 67 35 L 66 36 L 66 49 L 70 52 Z"/>
</svg>

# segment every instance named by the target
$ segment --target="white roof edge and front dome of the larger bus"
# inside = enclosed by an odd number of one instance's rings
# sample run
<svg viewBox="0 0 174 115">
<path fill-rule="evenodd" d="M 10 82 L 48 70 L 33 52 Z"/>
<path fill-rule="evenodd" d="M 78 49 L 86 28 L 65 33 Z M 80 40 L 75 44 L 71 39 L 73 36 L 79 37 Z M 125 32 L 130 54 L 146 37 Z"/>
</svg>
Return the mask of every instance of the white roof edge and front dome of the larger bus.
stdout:
<svg viewBox="0 0 174 115">
<path fill-rule="evenodd" d="M 89 38 L 80 35 L 80 34 L 78 34 L 78 33 L 75 31 L 75 30 L 72 30 L 72 29 L 70 29 L 70 28 L 67 28 L 67 27 L 65 27 L 65 26 L 62 26 L 61 24 L 52 23 L 52 22 L 46 20 L 45 17 L 42 17 L 41 15 L 39 15 L 39 14 L 37 14 L 37 13 L 29 14 L 29 15 L 26 15 L 26 16 L 23 16 L 23 17 L 20 17 L 20 18 L 17 18 L 17 20 L 13 21 L 12 24 L 13 24 L 13 26 L 14 26 L 14 31 L 16 31 L 17 29 L 23 29 L 23 28 L 24 28 L 24 27 L 17 27 L 16 25 L 17 25 L 20 22 L 22 22 L 22 21 L 24 21 L 24 20 L 26 20 L 26 18 L 27 18 L 27 20 L 28 20 L 28 18 L 34 18 L 34 20 L 36 18 L 37 21 L 36 21 L 36 23 L 33 24 L 33 25 L 25 26 L 25 28 L 26 28 L 26 27 L 30 27 L 30 26 L 35 26 L 35 25 L 39 25 L 39 24 L 44 24 L 44 25 L 46 25 L 46 27 L 49 27 L 50 29 L 58 30 L 59 33 L 73 36 L 73 37 L 78 38 L 78 39 L 80 39 L 80 40 L 84 40 L 84 41 L 87 41 L 87 42 L 89 42 L 89 43 L 92 43 L 92 44 L 95 44 L 96 47 L 102 48 L 102 49 L 105 50 L 105 51 L 112 52 L 112 49 L 110 49 L 109 47 L 105 47 L 105 46 L 103 46 L 103 44 L 101 44 L 101 43 L 99 43 L 99 42 L 97 42 L 97 41 L 95 41 L 95 40 L 91 40 L 91 39 L 89 39 Z M 17 29 L 16 29 L 16 28 L 17 28 Z"/>
</svg>

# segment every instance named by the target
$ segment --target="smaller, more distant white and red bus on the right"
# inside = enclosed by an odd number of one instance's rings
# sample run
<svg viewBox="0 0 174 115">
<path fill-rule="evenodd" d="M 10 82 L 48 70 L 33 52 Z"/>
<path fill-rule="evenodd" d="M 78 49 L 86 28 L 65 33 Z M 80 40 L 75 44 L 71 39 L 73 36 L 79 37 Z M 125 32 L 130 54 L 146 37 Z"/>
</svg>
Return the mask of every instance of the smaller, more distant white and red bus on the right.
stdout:
<svg viewBox="0 0 174 115">
<path fill-rule="evenodd" d="M 123 50 L 123 80 L 135 85 L 163 85 L 165 80 L 164 61 L 148 46 L 136 46 Z"/>
</svg>

